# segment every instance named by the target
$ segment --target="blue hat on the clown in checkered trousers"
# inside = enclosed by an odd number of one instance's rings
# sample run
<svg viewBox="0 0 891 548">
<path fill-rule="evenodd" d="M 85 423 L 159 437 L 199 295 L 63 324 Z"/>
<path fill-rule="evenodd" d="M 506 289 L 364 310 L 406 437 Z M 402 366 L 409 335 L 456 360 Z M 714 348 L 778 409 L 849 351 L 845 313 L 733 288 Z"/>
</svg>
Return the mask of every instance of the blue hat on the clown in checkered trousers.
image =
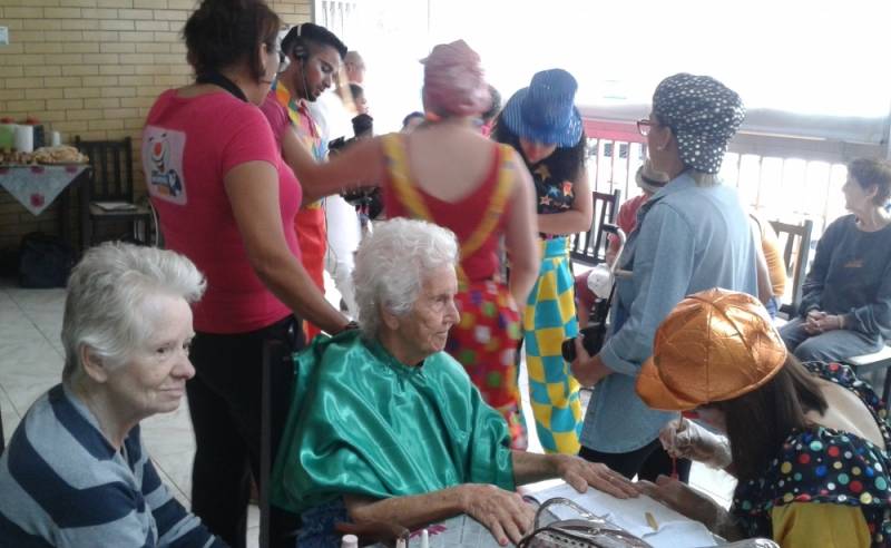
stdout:
<svg viewBox="0 0 891 548">
<path fill-rule="evenodd" d="M 571 147 L 581 138 L 581 115 L 574 105 L 578 84 L 562 69 L 537 72 L 528 88 L 510 98 L 501 120 L 517 136 L 535 143 Z"/>
</svg>

